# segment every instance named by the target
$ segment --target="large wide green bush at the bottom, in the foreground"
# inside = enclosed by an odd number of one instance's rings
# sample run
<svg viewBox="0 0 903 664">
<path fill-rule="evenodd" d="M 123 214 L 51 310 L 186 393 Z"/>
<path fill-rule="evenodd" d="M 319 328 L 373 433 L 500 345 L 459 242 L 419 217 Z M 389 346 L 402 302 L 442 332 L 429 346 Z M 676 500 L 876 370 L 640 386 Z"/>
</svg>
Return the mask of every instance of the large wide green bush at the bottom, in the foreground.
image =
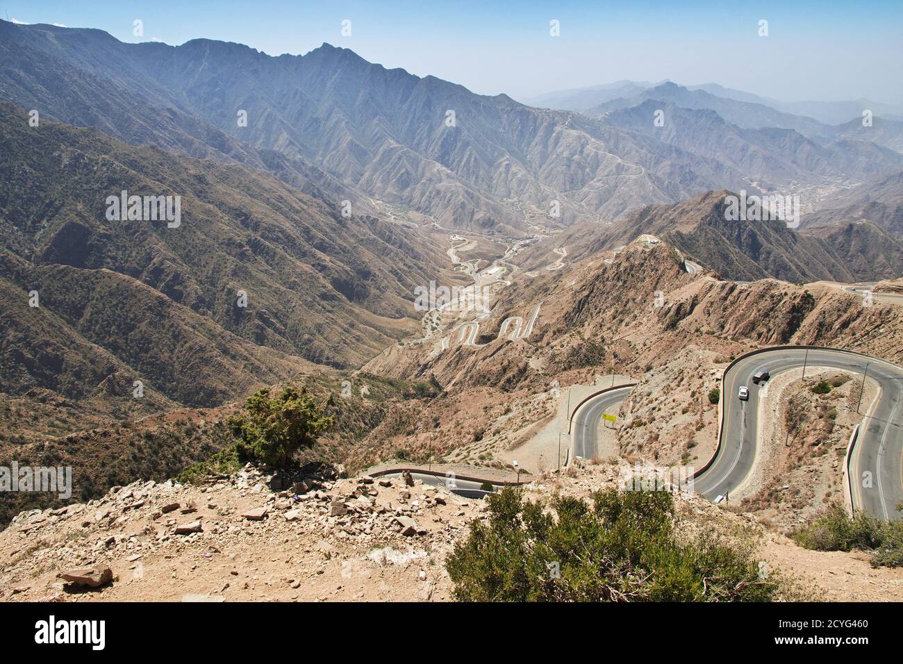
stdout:
<svg viewBox="0 0 903 664">
<path fill-rule="evenodd" d="M 777 574 L 760 575 L 749 543 L 709 533 L 677 538 L 666 491 L 597 491 L 522 500 L 505 487 L 487 498 L 489 519 L 446 562 L 466 602 L 768 601 Z"/>
</svg>

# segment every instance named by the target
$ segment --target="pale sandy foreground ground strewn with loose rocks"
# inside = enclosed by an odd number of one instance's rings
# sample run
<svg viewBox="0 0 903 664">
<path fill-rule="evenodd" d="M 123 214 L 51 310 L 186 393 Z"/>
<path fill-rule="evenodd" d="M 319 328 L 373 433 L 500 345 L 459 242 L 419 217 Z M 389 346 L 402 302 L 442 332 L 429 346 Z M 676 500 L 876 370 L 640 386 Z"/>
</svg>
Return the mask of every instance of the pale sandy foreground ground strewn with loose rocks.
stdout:
<svg viewBox="0 0 903 664">
<path fill-rule="evenodd" d="M 527 485 L 527 497 L 589 496 L 622 471 L 573 467 Z M 687 534 L 759 538 L 763 567 L 797 577 L 805 596 L 903 599 L 901 569 L 806 551 L 693 494 L 676 504 Z M 328 468 L 302 482 L 250 467 L 203 486 L 134 482 L 87 504 L 19 514 L 0 532 L 0 600 L 447 601 L 445 556 L 485 511 L 483 500 L 409 478 L 340 480 Z"/>
</svg>

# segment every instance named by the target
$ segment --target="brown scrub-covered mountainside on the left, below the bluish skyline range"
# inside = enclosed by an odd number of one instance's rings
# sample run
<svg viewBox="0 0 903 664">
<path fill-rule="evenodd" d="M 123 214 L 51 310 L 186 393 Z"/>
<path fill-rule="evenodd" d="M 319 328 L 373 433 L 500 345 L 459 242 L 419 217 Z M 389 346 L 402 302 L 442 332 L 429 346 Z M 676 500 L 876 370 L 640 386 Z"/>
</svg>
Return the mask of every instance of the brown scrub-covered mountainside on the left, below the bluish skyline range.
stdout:
<svg viewBox="0 0 903 664">
<path fill-rule="evenodd" d="M 307 360 L 359 364 L 394 341 L 413 324 L 414 285 L 435 278 L 431 265 L 445 258 L 407 229 L 343 218 L 260 173 L 93 129 L 31 127 L 10 105 L 0 106 L 0 142 L 6 251 L 33 267 L 133 277 L 228 332 Z M 180 225 L 107 220 L 107 197 L 123 190 L 179 196 Z M 23 288 L 32 279 L 15 277 Z M 47 302 L 70 288 L 44 287 Z"/>
</svg>

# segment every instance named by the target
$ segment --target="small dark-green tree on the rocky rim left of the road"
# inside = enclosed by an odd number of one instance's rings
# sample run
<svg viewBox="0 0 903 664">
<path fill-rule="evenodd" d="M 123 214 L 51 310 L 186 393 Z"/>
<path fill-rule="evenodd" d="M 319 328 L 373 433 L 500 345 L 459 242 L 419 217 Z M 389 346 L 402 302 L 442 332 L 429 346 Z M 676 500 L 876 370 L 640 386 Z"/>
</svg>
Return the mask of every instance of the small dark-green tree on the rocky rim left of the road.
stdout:
<svg viewBox="0 0 903 664">
<path fill-rule="evenodd" d="M 312 447 L 332 426 L 307 388 L 284 388 L 275 398 L 259 389 L 245 401 L 246 413 L 230 417 L 237 450 L 245 458 L 282 467 L 302 447 Z"/>
</svg>

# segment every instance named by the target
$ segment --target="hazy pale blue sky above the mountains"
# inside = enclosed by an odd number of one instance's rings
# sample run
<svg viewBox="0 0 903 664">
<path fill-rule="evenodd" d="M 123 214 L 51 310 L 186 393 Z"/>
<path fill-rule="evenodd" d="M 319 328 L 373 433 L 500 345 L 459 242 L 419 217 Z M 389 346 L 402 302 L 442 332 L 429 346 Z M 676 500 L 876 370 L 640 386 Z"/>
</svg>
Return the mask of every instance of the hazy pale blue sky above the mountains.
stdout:
<svg viewBox="0 0 903 664">
<path fill-rule="evenodd" d="M 903 2 L 236 2 L 0 0 L 23 23 L 95 27 L 124 42 L 196 37 L 271 55 L 330 42 L 368 61 L 514 98 L 618 79 L 716 82 L 768 97 L 903 103 Z M 792 5 L 792 6 L 789 6 Z M 5 18 L 5 15 L 4 15 Z M 351 36 L 340 33 L 351 21 Z M 549 22 L 561 36 L 549 34 Z M 768 37 L 759 37 L 759 20 Z"/>
</svg>

